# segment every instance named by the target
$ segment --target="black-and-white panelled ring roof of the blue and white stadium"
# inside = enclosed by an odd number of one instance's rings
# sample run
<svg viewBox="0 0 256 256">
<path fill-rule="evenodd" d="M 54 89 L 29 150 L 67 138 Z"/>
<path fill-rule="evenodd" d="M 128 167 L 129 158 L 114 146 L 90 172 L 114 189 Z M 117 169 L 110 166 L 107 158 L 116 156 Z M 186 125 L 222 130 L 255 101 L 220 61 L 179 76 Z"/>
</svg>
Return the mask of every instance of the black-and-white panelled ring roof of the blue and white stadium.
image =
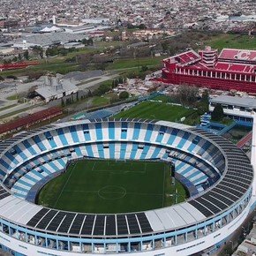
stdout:
<svg viewBox="0 0 256 256">
<path fill-rule="evenodd" d="M 127 237 L 148 232 L 177 230 L 196 222 L 206 221 L 208 217 L 219 215 L 229 209 L 229 207 L 237 204 L 237 201 L 245 197 L 246 192 L 250 189 L 253 170 L 249 159 L 242 150 L 238 149 L 227 139 L 197 128 L 190 128 L 184 124 L 158 122 L 140 118 L 109 118 L 53 124 L 48 128 L 45 127 L 41 132 L 74 124 L 85 124 L 85 122 L 97 123 L 106 121 L 167 125 L 183 129 L 186 132 L 192 132 L 223 150 L 222 153 L 227 161 L 225 172 L 214 187 L 200 194 L 197 198 L 191 198 L 172 207 L 117 215 L 80 214 L 37 206 L 25 200 L 15 198 L 9 192 L 6 192 L 5 189 L 1 188 L 0 185 L 1 216 L 11 222 L 18 222 L 35 229 L 48 230 L 48 232 L 83 236 Z M 35 132 L 40 132 L 40 130 Z M 34 136 L 34 134 L 29 134 L 29 136 Z M 25 138 L 23 137 L 23 139 Z"/>
</svg>

